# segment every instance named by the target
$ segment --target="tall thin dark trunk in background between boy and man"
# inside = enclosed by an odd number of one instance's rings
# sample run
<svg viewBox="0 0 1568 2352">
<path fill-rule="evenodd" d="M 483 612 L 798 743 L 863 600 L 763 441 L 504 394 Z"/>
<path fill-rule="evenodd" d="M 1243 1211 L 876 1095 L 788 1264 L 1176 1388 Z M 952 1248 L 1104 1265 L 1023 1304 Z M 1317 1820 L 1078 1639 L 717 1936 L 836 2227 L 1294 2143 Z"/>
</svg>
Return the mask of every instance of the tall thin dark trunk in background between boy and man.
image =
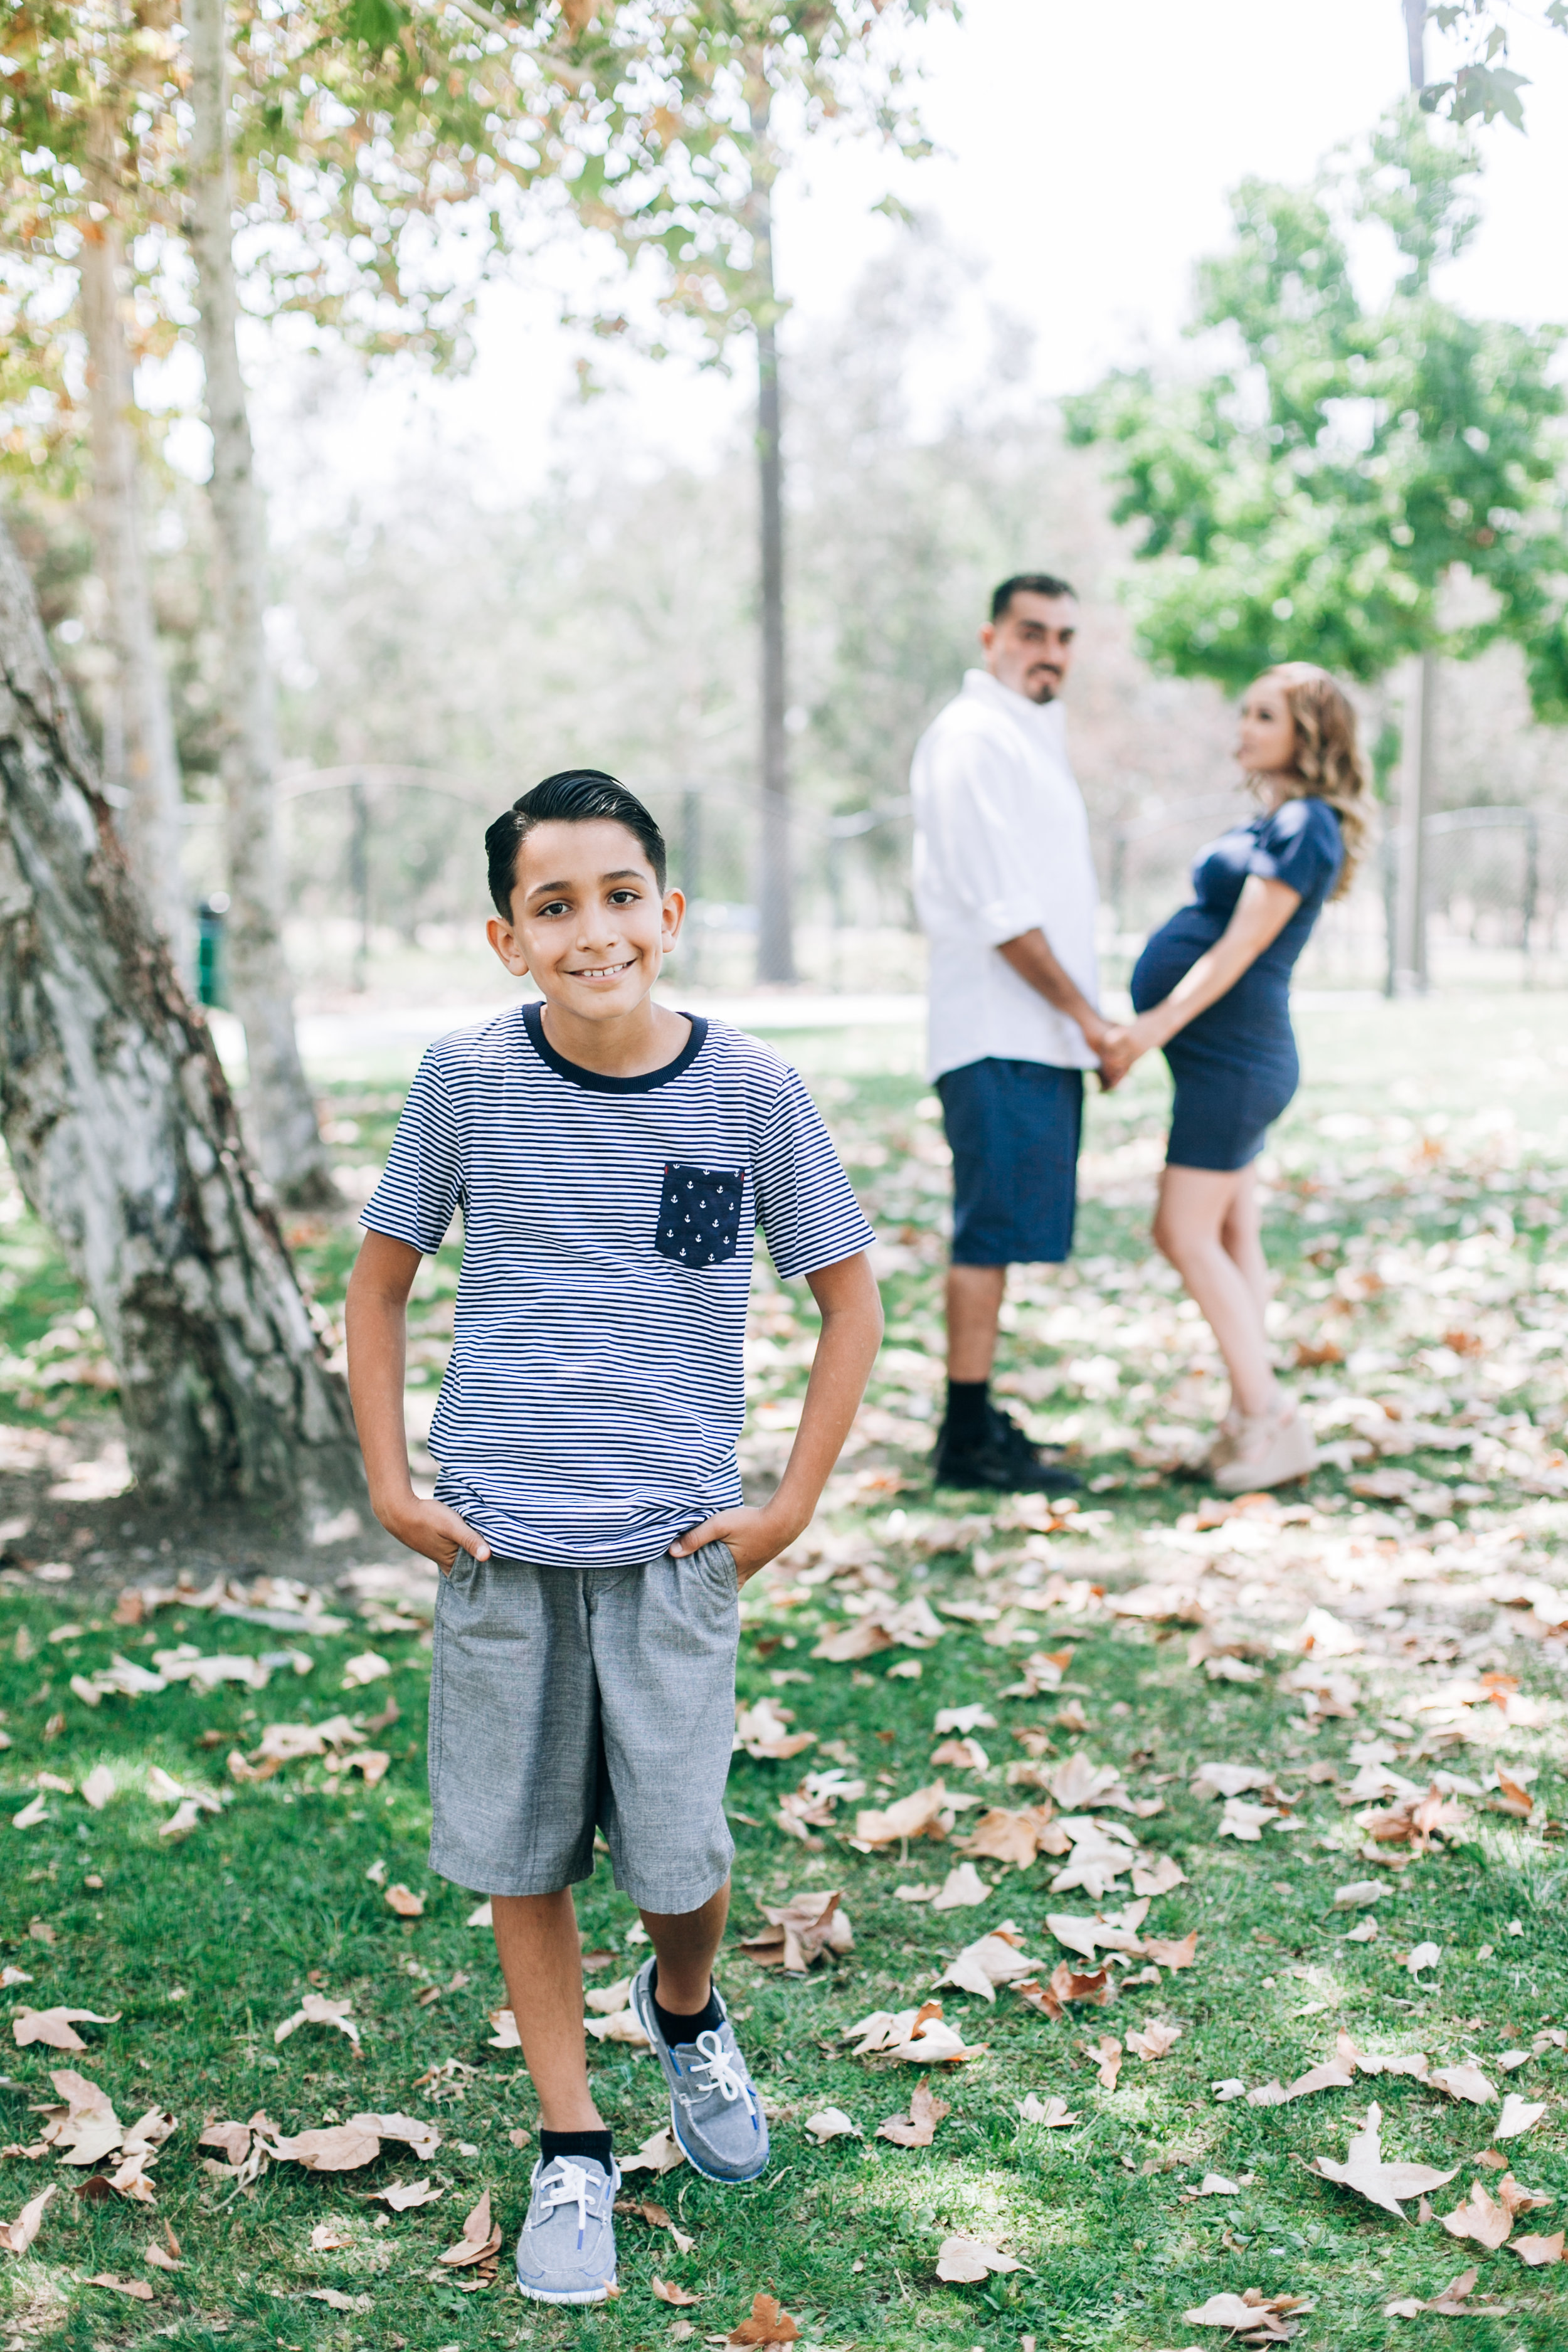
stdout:
<svg viewBox="0 0 1568 2352">
<path fill-rule="evenodd" d="M 773 289 L 773 167 L 766 160 L 769 92 L 752 99 L 752 275 L 757 280 L 757 492 L 762 600 L 762 809 L 757 828 L 757 978 L 795 978 L 795 875 L 790 844 L 790 736 L 785 729 L 783 414 Z"/>
</svg>

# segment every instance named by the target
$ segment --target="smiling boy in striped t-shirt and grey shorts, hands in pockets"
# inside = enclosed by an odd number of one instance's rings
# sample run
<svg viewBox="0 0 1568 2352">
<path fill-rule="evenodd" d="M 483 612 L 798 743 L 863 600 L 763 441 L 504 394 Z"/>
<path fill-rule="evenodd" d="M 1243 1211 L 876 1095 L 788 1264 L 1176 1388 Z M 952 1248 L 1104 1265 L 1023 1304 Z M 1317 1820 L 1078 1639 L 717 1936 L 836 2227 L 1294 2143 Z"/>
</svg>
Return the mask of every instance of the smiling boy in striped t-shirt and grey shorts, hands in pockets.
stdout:
<svg viewBox="0 0 1568 2352">
<path fill-rule="evenodd" d="M 733 1842 L 738 1588 L 809 1524 L 882 1338 L 872 1240 L 795 1070 L 654 1002 L 684 901 L 658 826 L 597 769 L 484 835 L 489 943 L 524 1002 L 425 1054 L 364 1209 L 348 1376 L 381 1524 L 442 1571 L 430 1867 L 494 1898 L 538 2091 L 517 2284 L 602 2303 L 621 2173 L 588 2089 L 571 1886 L 604 1830 L 649 1931 L 632 2009 L 710 2180 L 769 2157 L 712 1987 Z M 404 1308 L 463 1207 L 451 1364 L 409 1482 Z M 755 1228 L 823 1315 L 778 1491 L 741 1501 Z"/>
</svg>

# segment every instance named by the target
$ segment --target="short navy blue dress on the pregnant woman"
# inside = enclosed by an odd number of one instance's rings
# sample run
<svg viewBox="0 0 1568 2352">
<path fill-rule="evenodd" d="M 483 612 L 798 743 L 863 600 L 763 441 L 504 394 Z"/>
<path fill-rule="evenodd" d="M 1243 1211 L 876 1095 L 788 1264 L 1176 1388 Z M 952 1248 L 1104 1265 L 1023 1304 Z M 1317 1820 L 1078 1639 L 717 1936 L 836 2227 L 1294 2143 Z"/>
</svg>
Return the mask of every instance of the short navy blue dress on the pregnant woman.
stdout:
<svg viewBox="0 0 1568 2352">
<path fill-rule="evenodd" d="M 1135 1011 L 1164 1004 L 1199 955 L 1213 948 L 1248 875 L 1286 882 L 1302 903 L 1237 985 L 1166 1047 L 1175 1080 L 1171 1167 L 1244 1169 L 1295 1094 L 1300 1061 L 1291 1030 L 1291 971 L 1342 863 L 1340 818 L 1324 800 L 1286 800 L 1272 816 L 1234 826 L 1199 849 L 1192 906 L 1152 934 L 1133 967 Z"/>
</svg>

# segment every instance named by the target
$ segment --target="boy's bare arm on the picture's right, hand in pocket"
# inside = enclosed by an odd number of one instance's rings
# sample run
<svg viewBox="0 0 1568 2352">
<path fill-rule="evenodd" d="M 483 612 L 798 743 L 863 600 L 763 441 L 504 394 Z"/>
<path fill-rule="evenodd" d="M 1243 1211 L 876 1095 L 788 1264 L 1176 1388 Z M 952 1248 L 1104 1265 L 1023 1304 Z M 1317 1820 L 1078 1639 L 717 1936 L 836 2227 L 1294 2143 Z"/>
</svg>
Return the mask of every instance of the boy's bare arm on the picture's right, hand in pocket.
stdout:
<svg viewBox="0 0 1568 2352">
<path fill-rule="evenodd" d="M 823 1331 L 811 1362 L 806 1404 L 790 1446 L 790 1461 L 771 1503 L 762 1510 L 719 1510 L 703 1519 L 670 1550 L 682 1557 L 705 1543 L 726 1543 L 736 1555 L 741 1583 L 795 1543 L 811 1524 L 823 1486 L 860 1409 L 870 1369 L 882 1345 L 882 1294 L 865 1251 L 839 1258 L 806 1275 L 823 1315 Z"/>
</svg>

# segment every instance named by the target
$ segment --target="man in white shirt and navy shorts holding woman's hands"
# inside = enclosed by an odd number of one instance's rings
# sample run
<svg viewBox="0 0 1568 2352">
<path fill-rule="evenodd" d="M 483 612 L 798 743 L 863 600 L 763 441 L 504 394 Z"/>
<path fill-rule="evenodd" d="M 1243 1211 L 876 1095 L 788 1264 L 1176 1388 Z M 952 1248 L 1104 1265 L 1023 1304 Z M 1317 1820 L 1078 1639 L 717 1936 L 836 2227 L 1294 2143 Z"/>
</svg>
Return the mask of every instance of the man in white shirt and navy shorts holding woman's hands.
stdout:
<svg viewBox="0 0 1568 2352">
<path fill-rule="evenodd" d="M 1098 889 L 1058 701 L 1074 637 L 1067 581 L 1004 581 L 980 630 L 985 668 L 964 673 L 910 779 L 929 1077 L 954 1181 L 943 1486 L 1077 1486 L 990 1402 L 1006 1270 L 1060 1265 L 1072 1249 L 1084 1070 L 1119 1035 L 1095 1002 Z"/>
</svg>

